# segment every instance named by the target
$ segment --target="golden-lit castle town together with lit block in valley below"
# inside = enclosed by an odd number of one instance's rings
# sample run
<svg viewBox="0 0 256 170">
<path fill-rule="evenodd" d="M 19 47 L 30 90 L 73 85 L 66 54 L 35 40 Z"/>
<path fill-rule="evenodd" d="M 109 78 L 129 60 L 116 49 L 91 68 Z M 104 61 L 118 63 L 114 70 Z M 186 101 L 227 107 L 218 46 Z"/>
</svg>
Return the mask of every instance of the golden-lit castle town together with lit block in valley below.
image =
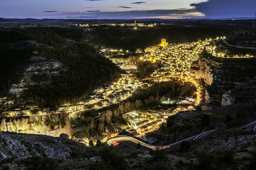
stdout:
<svg viewBox="0 0 256 170">
<path fill-rule="evenodd" d="M 76 113 L 81 111 L 100 110 L 111 106 L 112 104 L 125 101 L 132 96 L 137 89 L 148 88 L 154 82 L 161 81 L 180 81 L 191 82 L 196 87 L 195 99 L 188 98 L 187 100 L 180 100 L 178 104 L 181 105 L 175 110 L 162 110 L 162 111 L 133 111 L 126 113 L 123 117 L 129 125 L 120 126 L 121 129 L 128 130 L 131 134 L 143 135 L 147 132 L 157 131 L 163 122 L 170 115 L 175 115 L 179 111 L 194 110 L 193 106 L 200 104 L 202 100 L 202 85 L 195 80 L 195 74 L 191 73 L 190 67 L 193 62 L 198 60 L 200 53 L 205 49 L 211 49 L 210 43 L 215 40 L 206 39 L 205 41 L 197 41 L 193 43 L 167 43 L 166 39 L 161 39 L 161 43 L 157 46 L 151 46 L 145 49 L 145 53 L 137 50 L 136 53 L 140 54 L 139 60 L 148 60 L 152 63 L 161 65 L 159 69 L 150 74 L 148 78 L 135 78 L 133 73 L 136 73 L 136 62 L 131 62 L 129 59 L 118 59 L 115 55 L 127 55 L 129 51 L 122 49 L 116 50 L 111 48 L 102 48 L 102 54 L 108 59 L 112 60 L 126 73 L 121 74 L 121 77 L 116 81 L 105 83 L 104 86 L 98 87 L 93 90 L 90 99 L 80 102 L 78 104 L 64 104 L 59 106 L 57 111 L 50 111 L 50 108 L 44 108 L 38 111 L 38 115 L 68 113 L 69 117 L 76 117 Z M 209 50 L 214 54 L 214 50 Z M 177 103 L 177 100 L 175 101 Z M 172 104 L 173 100 L 165 99 L 163 104 Z M 185 103 L 185 106 L 182 106 Z M 3 117 L 28 117 L 31 115 L 30 110 L 16 109 L 13 111 L 5 111 L 2 113 Z M 33 114 L 35 115 L 35 113 Z M 116 126 L 116 125 L 115 125 Z M 119 128 L 119 125 L 116 127 Z M 117 133 L 116 133 L 117 132 Z M 111 136 L 115 136 L 119 131 L 114 131 Z M 84 139 L 87 141 L 88 139 Z M 88 143 L 86 144 L 88 145 Z"/>
</svg>

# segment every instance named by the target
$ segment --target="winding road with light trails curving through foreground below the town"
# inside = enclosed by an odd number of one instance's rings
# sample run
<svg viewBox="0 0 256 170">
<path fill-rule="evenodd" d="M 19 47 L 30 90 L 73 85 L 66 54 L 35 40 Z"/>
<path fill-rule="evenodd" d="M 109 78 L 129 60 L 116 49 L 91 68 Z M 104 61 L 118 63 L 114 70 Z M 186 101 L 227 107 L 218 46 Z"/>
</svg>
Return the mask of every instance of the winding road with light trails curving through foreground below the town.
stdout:
<svg viewBox="0 0 256 170">
<path fill-rule="evenodd" d="M 189 120 L 192 120 L 192 121 L 195 121 L 195 122 L 200 122 L 201 121 L 200 118 L 193 117 L 188 112 L 181 112 L 181 113 L 178 113 L 178 115 L 180 117 L 188 118 Z M 150 145 L 150 144 L 144 143 L 144 142 L 142 142 L 138 139 L 132 138 L 131 136 L 113 136 L 111 138 L 108 138 L 107 143 L 108 143 L 108 145 L 112 145 L 113 143 L 117 143 L 117 142 L 120 142 L 120 141 L 131 141 L 133 143 L 140 143 L 142 146 L 145 146 L 145 147 L 150 148 L 152 150 L 157 150 L 157 149 L 161 150 L 161 149 L 165 149 L 165 148 L 170 148 L 170 146 L 177 145 L 177 144 L 181 143 L 182 141 L 191 141 L 191 140 L 195 140 L 195 139 L 202 139 L 205 136 L 207 136 L 208 134 L 210 134 L 211 132 L 217 131 L 218 129 L 224 129 L 226 127 L 225 125 L 216 124 L 214 122 L 210 122 L 209 125 L 215 127 L 215 129 L 212 130 L 212 131 L 202 132 L 202 133 L 200 133 L 196 136 L 191 136 L 189 138 L 183 139 L 181 141 L 177 141 L 177 142 L 172 143 L 170 145 L 164 145 L 164 146 Z"/>
</svg>

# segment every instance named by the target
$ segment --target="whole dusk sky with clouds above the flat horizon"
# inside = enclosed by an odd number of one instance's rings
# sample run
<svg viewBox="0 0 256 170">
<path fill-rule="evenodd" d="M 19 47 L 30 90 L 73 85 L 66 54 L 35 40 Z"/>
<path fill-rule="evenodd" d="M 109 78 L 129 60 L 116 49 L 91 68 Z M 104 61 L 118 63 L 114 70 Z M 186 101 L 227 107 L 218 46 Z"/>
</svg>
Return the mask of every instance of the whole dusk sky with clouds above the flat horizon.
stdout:
<svg viewBox="0 0 256 170">
<path fill-rule="evenodd" d="M 2 18 L 240 18 L 256 0 L 0 0 Z"/>
</svg>

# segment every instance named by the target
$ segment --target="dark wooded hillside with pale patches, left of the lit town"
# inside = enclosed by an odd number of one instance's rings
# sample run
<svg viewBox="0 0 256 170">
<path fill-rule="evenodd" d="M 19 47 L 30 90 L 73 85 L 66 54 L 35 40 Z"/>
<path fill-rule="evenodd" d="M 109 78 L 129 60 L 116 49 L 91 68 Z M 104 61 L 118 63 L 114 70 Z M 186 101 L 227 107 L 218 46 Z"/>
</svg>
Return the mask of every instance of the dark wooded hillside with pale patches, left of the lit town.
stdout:
<svg viewBox="0 0 256 170">
<path fill-rule="evenodd" d="M 93 87 L 117 78 L 120 69 L 84 39 L 76 41 L 80 34 L 83 31 L 67 38 L 47 28 L 1 29 L 3 104 L 22 101 L 19 105 L 54 107 L 76 103 Z"/>
</svg>

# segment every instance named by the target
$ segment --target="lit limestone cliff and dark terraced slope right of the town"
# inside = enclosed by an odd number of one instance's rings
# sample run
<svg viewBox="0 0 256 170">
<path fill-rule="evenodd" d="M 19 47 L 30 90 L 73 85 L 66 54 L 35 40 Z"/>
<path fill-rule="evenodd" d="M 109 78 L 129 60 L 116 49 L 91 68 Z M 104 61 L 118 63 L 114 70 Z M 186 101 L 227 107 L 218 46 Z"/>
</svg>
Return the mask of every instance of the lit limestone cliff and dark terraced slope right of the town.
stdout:
<svg viewBox="0 0 256 170">
<path fill-rule="evenodd" d="M 191 71 L 205 83 L 205 103 L 228 106 L 256 98 L 256 59 L 225 59 L 204 52 Z"/>
</svg>

